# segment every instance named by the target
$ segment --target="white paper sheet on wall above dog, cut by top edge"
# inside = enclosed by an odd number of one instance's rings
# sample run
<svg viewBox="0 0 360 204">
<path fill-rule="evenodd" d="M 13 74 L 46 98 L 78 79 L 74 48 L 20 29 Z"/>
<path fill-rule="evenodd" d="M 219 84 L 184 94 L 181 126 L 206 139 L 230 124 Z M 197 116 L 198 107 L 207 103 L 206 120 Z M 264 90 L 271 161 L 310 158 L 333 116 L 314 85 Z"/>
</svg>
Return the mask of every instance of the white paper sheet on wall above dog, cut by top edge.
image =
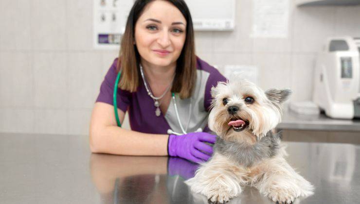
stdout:
<svg viewBox="0 0 360 204">
<path fill-rule="evenodd" d="M 253 0 L 252 37 L 288 37 L 289 0 Z"/>
</svg>

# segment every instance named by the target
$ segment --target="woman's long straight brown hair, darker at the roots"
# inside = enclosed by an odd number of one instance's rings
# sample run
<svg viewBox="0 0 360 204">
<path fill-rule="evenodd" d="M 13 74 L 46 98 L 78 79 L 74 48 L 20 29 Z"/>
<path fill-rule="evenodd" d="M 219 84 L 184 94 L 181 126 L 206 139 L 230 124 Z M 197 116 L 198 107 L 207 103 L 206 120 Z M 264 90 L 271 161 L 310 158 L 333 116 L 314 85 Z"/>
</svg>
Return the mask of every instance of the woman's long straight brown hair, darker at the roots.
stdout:
<svg viewBox="0 0 360 204">
<path fill-rule="evenodd" d="M 153 0 L 136 0 L 130 10 L 126 21 L 125 33 L 123 34 L 117 71 L 121 69 L 121 80 L 118 85 L 123 90 L 135 92 L 141 83 L 140 54 L 134 45 L 135 24 L 144 7 Z M 167 0 L 176 6 L 186 19 L 186 38 L 184 46 L 177 60 L 176 73 L 171 92 L 179 93 L 181 99 L 192 95 L 196 82 L 196 55 L 194 43 L 193 20 L 189 8 L 183 0 Z"/>
</svg>

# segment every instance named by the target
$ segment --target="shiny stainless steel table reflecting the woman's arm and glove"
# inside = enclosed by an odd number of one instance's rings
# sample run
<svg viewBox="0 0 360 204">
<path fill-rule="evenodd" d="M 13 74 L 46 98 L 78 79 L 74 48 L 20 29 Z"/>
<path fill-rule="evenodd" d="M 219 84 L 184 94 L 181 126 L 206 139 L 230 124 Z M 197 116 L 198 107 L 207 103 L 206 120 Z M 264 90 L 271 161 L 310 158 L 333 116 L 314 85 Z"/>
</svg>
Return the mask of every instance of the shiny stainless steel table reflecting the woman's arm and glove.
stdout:
<svg viewBox="0 0 360 204">
<path fill-rule="evenodd" d="M 91 154 L 87 136 L 0 133 L 0 203 L 208 203 L 183 183 L 196 165 L 166 156 Z M 288 161 L 316 187 L 303 204 L 360 201 L 360 146 L 288 142 Z M 252 187 L 229 204 L 272 204 Z"/>
</svg>

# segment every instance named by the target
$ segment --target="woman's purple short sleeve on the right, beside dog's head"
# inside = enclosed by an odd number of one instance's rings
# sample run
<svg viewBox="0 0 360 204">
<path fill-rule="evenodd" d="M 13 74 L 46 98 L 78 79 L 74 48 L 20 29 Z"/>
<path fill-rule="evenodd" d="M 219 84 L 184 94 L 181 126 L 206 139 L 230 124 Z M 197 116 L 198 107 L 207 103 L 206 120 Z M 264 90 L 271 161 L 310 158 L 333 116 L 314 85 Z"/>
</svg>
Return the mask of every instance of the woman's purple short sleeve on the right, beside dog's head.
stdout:
<svg viewBox="0 0 360 204">
<path fill-rule="evenodd" d="M 227 79 L 216 68 L 211 69 L 205 86 L 204 107 L 206 111 L 210 111 L 211 101 L 213 100 L 211 97 L 211 88 L 216 86 L 218 82 L 226 82 L 226 80 Z"/>
</svg>

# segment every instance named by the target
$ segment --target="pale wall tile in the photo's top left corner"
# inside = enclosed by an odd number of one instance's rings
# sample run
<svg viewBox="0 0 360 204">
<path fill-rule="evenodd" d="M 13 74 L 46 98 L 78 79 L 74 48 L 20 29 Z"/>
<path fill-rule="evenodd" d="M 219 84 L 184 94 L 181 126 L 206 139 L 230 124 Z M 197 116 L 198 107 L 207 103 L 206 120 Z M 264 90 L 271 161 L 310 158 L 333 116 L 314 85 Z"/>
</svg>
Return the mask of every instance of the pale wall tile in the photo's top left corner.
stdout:
<svg viewBox="0 0 360 204">
<path fill-rule="evenodd" d="M 29 0 L 0 1 L 0 50 L 30 50 L 31 23 Z"/>
</svg>

